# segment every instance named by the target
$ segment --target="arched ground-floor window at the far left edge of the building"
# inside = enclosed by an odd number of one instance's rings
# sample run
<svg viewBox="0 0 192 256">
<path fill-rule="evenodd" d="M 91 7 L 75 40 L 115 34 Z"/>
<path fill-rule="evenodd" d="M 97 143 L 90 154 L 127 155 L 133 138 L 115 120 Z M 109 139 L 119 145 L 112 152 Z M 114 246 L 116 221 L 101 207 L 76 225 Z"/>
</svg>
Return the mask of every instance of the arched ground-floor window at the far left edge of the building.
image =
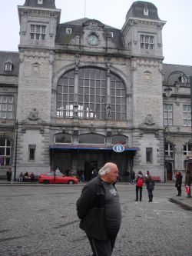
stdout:
<svg viewBox="0 0 192 256">
<path fill-rule="evenodd" d="M 11 165 L 11 142 L 0 137 L 0 163 L 3 166 Z"/>
</svg>

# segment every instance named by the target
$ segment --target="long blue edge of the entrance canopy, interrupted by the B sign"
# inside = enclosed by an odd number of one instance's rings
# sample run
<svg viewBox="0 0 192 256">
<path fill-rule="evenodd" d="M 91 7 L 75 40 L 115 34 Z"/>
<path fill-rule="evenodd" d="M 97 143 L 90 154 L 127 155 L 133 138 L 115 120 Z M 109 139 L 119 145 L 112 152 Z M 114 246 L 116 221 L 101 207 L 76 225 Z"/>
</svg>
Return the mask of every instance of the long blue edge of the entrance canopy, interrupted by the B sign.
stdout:
<svg viewBox="0 0 192 256">
<path fill-rule="evenodd" d="M 113 151 L 113 147 L 107 146 L 91 146 L 91 145 L 50 145 L 50 149 L 58 150 L 108 150 Z M 127 148 L 124 147 L 124 151 L 139 151 L 140 148 Z"/>
</svg>

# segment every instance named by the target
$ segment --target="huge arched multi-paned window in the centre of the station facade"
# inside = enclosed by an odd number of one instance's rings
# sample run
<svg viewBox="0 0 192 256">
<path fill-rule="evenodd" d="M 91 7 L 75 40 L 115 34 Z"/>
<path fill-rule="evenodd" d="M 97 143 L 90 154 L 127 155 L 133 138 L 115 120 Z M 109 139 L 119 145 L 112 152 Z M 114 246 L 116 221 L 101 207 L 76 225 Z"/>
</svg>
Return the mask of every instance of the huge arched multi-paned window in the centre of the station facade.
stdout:
<svg viewBox="0 0 192 256">
<path fill-rule="evenodd" d="M 126 91 L 118 75 L 111 73 L 108 78 L 106 71 L 101 68 L 79 68 L 77 78 L 75 90 L 74 70 L 62 75 L 58 81 L 58 118 L 73 118 L 76 115 L 78 118 L 104 120 L 109 106 L 112 119 L 126 119 Z M 74 99 L 75 91 L 78 93 L 78 102 Z"/>
</svg>

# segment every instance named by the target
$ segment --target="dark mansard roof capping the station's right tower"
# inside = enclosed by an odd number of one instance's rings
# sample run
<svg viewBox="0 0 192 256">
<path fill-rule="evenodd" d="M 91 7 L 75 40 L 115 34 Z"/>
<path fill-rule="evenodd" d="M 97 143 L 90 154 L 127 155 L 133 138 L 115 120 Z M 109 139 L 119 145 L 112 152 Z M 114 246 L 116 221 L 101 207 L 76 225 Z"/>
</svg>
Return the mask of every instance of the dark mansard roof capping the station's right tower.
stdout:
<svg viewBox="0 0 192 256">
<path fill-rule="evenodd" d="M 148 15 L 144 15 L 144 9 L 148 10 Z M 143 1 L 137 1 L 131 5 L 131 8 L 127 12 L 126 20 L 128 18 L 147 18 L 161 21 L 158 17 L 157 7 L 151 2 Z"/>
</svg>

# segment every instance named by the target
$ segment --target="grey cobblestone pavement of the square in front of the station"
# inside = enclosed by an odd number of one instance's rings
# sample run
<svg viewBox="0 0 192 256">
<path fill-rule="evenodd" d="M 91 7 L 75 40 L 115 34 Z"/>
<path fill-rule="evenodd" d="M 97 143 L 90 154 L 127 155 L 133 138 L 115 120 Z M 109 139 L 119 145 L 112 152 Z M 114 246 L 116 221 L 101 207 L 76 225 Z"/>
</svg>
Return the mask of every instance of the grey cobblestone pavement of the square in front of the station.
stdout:
<svg viewBox="0 0 192 256">
<path fill-rule="evenodd" d="M 81 185 L 1 186 L 1 256 L 88 256 L 91 249 L 78 228 L 75 202 Z M 156 186 L 154 202 L 135 202 L 134 185 L 117 185 L 121 231 L 113 256 L 192 254 L 192 211 L 168 198 L 174 186 Z"/>
</svg>

